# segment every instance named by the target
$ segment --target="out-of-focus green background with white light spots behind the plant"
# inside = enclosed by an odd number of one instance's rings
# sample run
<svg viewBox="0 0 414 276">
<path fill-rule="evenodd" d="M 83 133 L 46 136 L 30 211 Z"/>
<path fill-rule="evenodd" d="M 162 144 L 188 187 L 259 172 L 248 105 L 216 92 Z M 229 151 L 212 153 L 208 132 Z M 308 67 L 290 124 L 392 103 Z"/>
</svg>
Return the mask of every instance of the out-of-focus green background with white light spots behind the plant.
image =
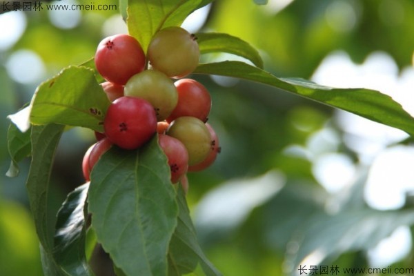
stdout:
<svg viewBox="0 0 414 276">
<path fill-rule="evenodd" d="M 90 3 L 56 3 L 72 2 Z M 374 88 L 413 114 L 414 1 L 261 2 L 217 0 L 184 26 L 241 37 L 277 77 Z M 119 10 L 0 14 L 0 275 L 42 275 L 25 188 L 29 160 L 19 177 L 6 177 L 6 116 L 30 101 L 41 81 L 86 61 L 103 37 L 118 32 L 126 32 Z M 202 57 L 223 59 L 237 57 Z M 188 203 L 201 245 L 224 275 L 414 268 L 414 148 L 407 135 L 261 84 L 191 77 L 210 90 L 209 122 L 222 150 L 213 166 L 188 174 Z M 81 159 L 94 139 L 81 128 L 63 135 L 55 206 L 83 183 Z"/>
</svg>

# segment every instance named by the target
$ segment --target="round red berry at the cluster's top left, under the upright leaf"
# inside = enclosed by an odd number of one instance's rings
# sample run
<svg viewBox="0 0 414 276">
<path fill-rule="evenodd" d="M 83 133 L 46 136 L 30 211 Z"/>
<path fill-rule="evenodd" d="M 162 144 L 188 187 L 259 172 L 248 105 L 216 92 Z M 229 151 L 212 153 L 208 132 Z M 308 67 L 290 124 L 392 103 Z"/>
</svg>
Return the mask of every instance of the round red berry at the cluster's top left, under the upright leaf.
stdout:
<svg viewBox="0 0 414 276">
<path fill-rule="evenodd" d="M 130 77 L 145 68 L 146 58 L 141 44 L 128 34 L 115 34 L 103 39 L 95 53 L 95 66 L 103 78 L 124 85 Z"/>
</svg>

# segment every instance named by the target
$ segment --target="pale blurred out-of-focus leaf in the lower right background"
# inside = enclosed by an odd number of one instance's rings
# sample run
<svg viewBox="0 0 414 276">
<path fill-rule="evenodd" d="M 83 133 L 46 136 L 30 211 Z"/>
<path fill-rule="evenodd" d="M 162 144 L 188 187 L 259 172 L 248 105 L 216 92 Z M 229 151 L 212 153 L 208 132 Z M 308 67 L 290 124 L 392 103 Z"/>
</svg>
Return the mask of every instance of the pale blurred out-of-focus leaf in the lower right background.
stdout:
<svg viewBox="0 0 414 276">
<path fill-rule="evenodd" d="M 288 262 L 297 267 L 311 253 L 323 262 L 326 257 L 333 259 L 342 253 L 368 250 L 388 237 L 399 226 L 414 224 L 413 210 L 379 211 L 356 209 L 335 216 L 320 214 L 308 219 L 302 226 L 299 244 L 294 255 L 288 255 Z M 315 264 L 317 265 L 317 264 Z"/>
</svg>

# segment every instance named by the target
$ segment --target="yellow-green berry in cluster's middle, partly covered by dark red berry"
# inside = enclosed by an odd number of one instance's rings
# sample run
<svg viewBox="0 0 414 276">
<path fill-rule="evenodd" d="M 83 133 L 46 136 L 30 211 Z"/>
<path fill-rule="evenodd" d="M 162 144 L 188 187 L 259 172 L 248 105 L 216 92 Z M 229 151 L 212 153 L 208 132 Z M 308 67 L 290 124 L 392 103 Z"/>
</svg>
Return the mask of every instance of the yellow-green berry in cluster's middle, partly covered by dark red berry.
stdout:
<svg viewBox="0 0 414 276">
<path fill-rule="evenodd" d="M 125 85 L 124 94 L 149 101 L 155 108 L 158 121 L 166 119 L 178 101 L 177 88 L 172 80 L 156 70 L 145 70 L 133 75 Z"/>
</svg>

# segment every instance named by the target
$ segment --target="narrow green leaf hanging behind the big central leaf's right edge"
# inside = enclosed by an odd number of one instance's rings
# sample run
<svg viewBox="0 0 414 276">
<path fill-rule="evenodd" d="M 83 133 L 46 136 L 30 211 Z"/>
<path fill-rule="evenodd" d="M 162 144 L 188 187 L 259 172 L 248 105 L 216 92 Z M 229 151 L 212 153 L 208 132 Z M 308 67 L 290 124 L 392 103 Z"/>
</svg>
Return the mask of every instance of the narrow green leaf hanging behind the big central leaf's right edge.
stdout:
<svg viewBox="0 0 414 276">
<path fill-rule="evenodd" d="M 179 187 L 177 193 L 179 215 L 177 228 L 170 242 L 168 252 L 168 276 L 179 276 L 191 273 L 201 264 L 205 275 L 221 275 L 219 271 L 208 261 L 206 255 L 199 246 L 190 210 L 188 210 L 184 190 Z"/>
</svg>

